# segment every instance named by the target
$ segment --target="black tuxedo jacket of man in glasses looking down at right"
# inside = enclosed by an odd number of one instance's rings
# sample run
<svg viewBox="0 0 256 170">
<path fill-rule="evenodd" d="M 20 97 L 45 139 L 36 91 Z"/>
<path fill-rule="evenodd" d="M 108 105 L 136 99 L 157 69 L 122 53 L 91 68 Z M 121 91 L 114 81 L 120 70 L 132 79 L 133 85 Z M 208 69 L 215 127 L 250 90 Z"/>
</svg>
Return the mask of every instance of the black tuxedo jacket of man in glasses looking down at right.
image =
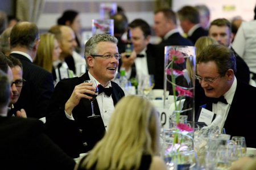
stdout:
<svg viewBox="0 0 256 170">
<path fill-rule="evenodd" d="M 251 100 L 250 96 L 256 96 L 256 88 L 237 80 L 237 89 L 224 128 L 226 134 L 230 134 L 231 136 L 243 136 L 245 137 L 247 147 L 255 148 L 255 100 Z M 209 100 L 208 97 L 206 97 L 206 99 Z M 212 103 L 208 102 L 206 109 L 212 111 Z"/>
</svg>

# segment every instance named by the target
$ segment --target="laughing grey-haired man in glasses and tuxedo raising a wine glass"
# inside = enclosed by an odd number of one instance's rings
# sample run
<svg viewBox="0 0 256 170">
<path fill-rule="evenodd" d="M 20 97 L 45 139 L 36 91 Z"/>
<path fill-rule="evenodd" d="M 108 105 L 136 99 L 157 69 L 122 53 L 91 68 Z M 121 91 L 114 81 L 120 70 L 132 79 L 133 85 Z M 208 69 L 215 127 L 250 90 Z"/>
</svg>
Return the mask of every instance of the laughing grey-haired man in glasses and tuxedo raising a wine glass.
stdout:
<svg viewBox="0 0 256 170">
<path fill-rule="evenodd" d="M 118 68 L 117 39 L 108 34 L 91 37 L 85 44 L 88 71 L 76 78 L 61 80 L 55 87 L 49 105 L 46 126 L 49 137 L 69 156 L 79 157 L 88 152 L 104 136 L 114 105 L 125 94 L 117 83 L 112 82 Z M 92 115 L 91 101 L 95 87 L 85 80 L 95 80 L 99 94 L 94 100 Z M 104 88 L 103 88 L 103 87 Z M 100 93 L 100 89 L 104 92 Z"/>
</svg>

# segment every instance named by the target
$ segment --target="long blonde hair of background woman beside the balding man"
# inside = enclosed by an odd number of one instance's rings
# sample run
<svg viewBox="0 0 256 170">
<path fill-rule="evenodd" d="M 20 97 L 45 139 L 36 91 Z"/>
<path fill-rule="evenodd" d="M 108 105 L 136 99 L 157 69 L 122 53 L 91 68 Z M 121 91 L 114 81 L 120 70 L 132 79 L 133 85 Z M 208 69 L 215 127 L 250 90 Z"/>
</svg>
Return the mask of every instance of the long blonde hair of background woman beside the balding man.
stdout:
<svg viewBox="0 0 256 170">
<path fill-rule="evenodd" d="M 42 33 L 40 43 L 36 52 L 35 65 L 43 67 L 44 70 L 52 73 L 52 55 L 54 49 L 55 35 L 52 33 Z"/>
</svg>

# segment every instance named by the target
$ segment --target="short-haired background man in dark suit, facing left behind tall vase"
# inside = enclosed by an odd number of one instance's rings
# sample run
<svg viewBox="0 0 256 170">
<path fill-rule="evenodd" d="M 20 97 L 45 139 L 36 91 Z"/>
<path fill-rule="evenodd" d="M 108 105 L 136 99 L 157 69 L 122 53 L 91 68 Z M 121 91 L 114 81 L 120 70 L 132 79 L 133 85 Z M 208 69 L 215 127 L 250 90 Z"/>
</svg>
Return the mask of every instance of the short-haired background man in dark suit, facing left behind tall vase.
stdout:
<svg viewBox="0 0 256 170">
<path fill-rule="evenodd" d="M 177 29 L 177 21 L 175 12 L 163 8 L 155 12 L 154 16 L 154 31 L 157 36 L 162 38 L 162 41 L 156 46 L 156 63 L 158 67 L 156 69 L 155 82 L 159 82 L 160 86 L 158 88 L 163 89 L 164 84 L 164 46 L 167 45 L 187 45 L 193 46 L 193 43 L 185 39 L 180 35 Z M 181 80 L 183 81 L 183 80 Z M 180 83 L 181 84 L 181 83 Z M 172 88 L 168 88 L 172 94 Z"/>
</svg>

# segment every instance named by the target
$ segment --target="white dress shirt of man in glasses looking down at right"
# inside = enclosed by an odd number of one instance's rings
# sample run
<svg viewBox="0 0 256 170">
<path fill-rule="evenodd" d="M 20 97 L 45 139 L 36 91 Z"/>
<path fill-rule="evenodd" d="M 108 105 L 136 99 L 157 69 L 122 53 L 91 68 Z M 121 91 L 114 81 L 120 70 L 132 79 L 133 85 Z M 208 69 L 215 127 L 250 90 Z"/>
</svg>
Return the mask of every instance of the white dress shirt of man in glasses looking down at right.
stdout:
<svg viewBox="0 0 256 170">
<path fill-rule="evenodd" d="M 236 76 L 234 77 L 234 82 L 230 89 L 224 94 L 224 98 L 226 99 L 228 104 L 224 104 L 221 101 L 218 101 L 218 103 L 212 104 L 212 111 L 213 113 L 216 113 L 216 117 L 220 115 L 222 118 L 219 120 L 219 122 L 215 122 L 219 128 L 223 128 L 226 117 L 228 117 L 230 105 L 232 104 L 234 93 L 236 92 L 237 88 L 237 79 Z"/>
</svg>

